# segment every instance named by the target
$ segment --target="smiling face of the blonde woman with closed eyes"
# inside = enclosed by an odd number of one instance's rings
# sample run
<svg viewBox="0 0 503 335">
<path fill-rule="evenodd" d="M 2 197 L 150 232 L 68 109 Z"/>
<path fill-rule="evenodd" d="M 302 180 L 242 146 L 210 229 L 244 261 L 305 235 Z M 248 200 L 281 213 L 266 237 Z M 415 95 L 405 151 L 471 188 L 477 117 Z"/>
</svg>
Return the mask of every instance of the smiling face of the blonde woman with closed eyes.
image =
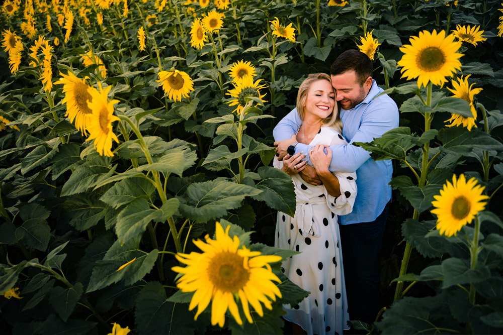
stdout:
<svg viewBox="0 0 503 335">
<path fill-rule="evenodd" d="M 332 85 L 328 80 L 316 80 L 311 84 L 304 102 L 304 113 L 307 116 L 326 119 L 332 114 L 336 102 L 336 94 L 333 93 Z"/>
</svg>

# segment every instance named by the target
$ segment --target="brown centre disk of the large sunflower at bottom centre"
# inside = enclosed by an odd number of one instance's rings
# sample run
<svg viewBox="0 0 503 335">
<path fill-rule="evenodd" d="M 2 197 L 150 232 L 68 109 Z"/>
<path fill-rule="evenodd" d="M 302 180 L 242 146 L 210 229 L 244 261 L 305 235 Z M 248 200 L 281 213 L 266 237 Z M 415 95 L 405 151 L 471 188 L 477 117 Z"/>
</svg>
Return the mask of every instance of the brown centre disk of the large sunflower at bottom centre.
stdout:
<svg viewBox="0 0 503 335">
<path fill-rule="evenodd" d="M 237 292 L 246 285 L 249 272 L 243 258 L 230 252 L 216 254 L 208 267 L 208 276 L 215 287 L 224 292 Z"/>
</svg>

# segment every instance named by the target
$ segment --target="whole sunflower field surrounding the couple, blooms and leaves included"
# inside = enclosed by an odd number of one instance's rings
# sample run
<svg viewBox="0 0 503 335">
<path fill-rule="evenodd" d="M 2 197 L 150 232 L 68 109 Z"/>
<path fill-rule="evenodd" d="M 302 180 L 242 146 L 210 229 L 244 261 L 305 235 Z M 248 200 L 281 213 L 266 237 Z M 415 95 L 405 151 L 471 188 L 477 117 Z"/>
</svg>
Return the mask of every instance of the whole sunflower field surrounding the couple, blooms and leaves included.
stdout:
<svg viewBox="0 0 503 335">
<path fill-rule="evenodd" d="M 400 127 L 362 333 L 503 332 L 503 4 L 3 0 L 0 333 L 287 333 L 272 130 L 356 49 Z M 500 64 L 500 65 L 497 65 Z"/>
</svg>

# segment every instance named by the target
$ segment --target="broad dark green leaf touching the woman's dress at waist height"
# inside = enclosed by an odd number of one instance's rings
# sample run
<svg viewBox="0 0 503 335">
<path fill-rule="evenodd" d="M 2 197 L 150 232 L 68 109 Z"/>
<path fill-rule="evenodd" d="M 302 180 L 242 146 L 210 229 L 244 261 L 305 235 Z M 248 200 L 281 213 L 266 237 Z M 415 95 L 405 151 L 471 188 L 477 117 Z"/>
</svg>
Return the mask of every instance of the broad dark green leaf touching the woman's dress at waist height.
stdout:
<svg viewBox="0 0 503 335">
<path fill-rule="evenodd" d="M 293 217 L 297 202 L 292 178 L 283 171 L 270 166 L 262 166 L 257 172 L 261 180 L 255 186 L 263 192 L 251 197 L 266 201 L 271 208 Z M 249 185 L 251 184 L 253 181 L 249 182 Z"/>
</svg>

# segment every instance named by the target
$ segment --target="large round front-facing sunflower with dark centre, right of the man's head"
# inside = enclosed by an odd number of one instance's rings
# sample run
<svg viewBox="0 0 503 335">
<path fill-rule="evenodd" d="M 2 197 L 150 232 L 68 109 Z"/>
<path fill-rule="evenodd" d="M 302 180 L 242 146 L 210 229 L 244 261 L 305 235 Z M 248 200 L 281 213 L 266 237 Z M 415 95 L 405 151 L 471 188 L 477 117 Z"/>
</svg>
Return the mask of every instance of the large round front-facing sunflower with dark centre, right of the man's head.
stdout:
<svg viewBox="0 0 503 335">
<path fill-rule="evenodd" d="M 463 54 L 457 53 L 461 47 L 461 42 L 454 42 L 454 35 L 445 36 L 445 31 L 437 34 L 423 31 L 419 37 L 412 36 L 410 45 L 400 47 L 404 53 L 398 65 L 402 66 L 402 78 L 407 80 L 417 78 L 417 86 L 426 85 L 432 82 L 434 85 L 442 86 L 451 77 L 456 69 L 461 69 L 459 58 Z"/>
</svg>

